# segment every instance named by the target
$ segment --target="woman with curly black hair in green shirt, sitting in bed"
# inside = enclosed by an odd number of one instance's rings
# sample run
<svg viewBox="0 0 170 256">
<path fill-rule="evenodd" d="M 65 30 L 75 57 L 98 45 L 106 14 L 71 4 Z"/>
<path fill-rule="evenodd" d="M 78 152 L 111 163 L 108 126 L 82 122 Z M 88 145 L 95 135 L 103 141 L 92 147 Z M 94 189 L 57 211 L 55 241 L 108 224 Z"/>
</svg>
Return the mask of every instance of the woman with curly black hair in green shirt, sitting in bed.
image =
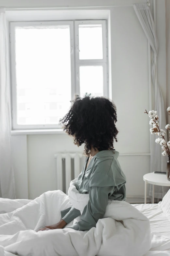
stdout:
<svg viewBox="0 0 170 256">
<path fill-rule="evenodd" d="M 78 95 L 68 113 L 60 120 L 64 131 L 73 136 L 75 145 L 85 144 L 87 156 L 84 167 L 76 181 L 79 193 L 89 193 L 89 201 L 82 214 L 74 207 L 61 211 L 59 223 L 44 229 L 62 229 L 80 216 L 80 220 L 68 228 L 90 230 L 102 219 L 108 200 L 125 200 L 126 177 L 117 160 L 119 152 L 114 150 L 118 130 L 116 106 L 105 97 Z"/>
</svg>

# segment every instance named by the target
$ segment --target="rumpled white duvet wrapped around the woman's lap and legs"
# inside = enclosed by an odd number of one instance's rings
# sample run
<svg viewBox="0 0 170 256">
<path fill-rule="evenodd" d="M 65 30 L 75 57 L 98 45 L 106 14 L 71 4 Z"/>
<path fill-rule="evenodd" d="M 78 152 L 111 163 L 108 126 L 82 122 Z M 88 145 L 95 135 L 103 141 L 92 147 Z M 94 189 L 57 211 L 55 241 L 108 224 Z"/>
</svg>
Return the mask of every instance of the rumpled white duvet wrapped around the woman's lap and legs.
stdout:
<svg viewBox="0 0 170 256">
<path fill-rule="evenodd" d="M 36 232 L 59 222 L 61 210 L 73 205 L 82 211 L 87 201 L 74 181 L 69 196 L 57 190 L 32 201 L 1 198 L 0 256 L 142 256 L 150 249 L 148 218 L 124 201 L 108 201 L 104 218 L 89 231 L 69 229 L 71 222 L 64 229 Z"/>
</svg>

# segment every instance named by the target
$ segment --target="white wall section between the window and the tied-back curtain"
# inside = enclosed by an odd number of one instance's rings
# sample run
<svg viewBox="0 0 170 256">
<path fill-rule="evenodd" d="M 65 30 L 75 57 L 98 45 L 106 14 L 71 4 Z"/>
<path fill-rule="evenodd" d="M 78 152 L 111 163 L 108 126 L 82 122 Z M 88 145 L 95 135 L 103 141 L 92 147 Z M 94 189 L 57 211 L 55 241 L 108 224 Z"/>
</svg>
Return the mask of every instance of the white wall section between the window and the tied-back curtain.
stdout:
<svg viewBox="0 0 170 256">
<path fill-rule="evenodd" d="M 149 108 L 148 42 L 132 7 L 113 8 L 110 14 L 112 99 L 119 130 L 115 148 L 121 154 L 149 153 L 148 116 L 144 114 Z M 127 196 L 143 196 L 149 156 L 121 156 L 119 161 L 127 177 Z"/>
</svg>

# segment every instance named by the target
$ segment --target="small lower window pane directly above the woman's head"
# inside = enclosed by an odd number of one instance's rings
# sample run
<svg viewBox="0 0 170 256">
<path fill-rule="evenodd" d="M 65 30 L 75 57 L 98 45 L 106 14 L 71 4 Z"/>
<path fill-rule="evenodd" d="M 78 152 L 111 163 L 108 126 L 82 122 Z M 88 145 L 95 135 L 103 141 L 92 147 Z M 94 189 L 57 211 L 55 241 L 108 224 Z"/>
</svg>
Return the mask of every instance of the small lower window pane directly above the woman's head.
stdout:
<svg viewBox="0 0 170 256">
<path fill-rule="evenodd" d="M 103 67 L 80 67 L 80 96 L 88 93 L 92 96 L 103 96 Z"/>
</svg>

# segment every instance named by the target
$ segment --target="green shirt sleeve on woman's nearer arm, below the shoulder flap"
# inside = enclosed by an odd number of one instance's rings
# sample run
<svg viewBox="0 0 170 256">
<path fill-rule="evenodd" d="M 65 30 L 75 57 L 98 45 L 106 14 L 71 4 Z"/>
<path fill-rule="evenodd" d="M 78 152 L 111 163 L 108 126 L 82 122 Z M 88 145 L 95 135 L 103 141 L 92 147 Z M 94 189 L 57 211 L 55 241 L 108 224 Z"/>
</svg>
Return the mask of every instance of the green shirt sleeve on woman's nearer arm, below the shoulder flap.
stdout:
<svg viewBox="0 0 170 256">
<path fill-rule="evenodd" d="M 113 187 L 90 187 L 89 202 L 83 210 L 81 220 L 68 228 L 85 231 L 95 227 L 105 214 L 108 194 L 112 189 Z"/>
</svg>

